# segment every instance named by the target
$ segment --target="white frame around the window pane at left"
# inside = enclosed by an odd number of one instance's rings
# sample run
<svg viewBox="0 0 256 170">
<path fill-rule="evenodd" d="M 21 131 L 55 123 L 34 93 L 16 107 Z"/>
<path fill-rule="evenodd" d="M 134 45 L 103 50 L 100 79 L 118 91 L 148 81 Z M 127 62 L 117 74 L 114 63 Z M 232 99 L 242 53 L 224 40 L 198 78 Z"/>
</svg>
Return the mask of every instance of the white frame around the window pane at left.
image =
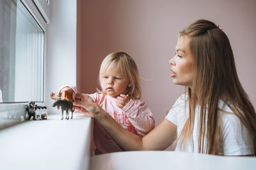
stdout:
<svg viewBox="0 0 256 170">
<path fill-rule="evenodd" d="M 36 22 L 40 25 L 40 27 L 45 32 L 45 37 L 47 34 L 47 24 L 50 22 L 50 1 L 46 0 L 20 0 L 24 6 L 28 9 L 31 15 L 35 18 Z M 45 4 L 47 6 L 45 6 Z M 40 11 L 38 11 L 40 10 Z M 44 14 L 43 14 L 44 13 Z M 45 39 L 46 42 L 46 39 Z M 45 43 L 44 42 L 44 43 Z M 45 44 L 44 44 L 45 46 Z M 44 55 L 45 55 L 45 48 L 44 48 Z M 45 68 L 45 56 L 44 56 L 44 68 Z M 45 75 L 45 69 L 44 69 Z M 45 88 L 45 77 L 44 77 L 44 88 Z M 45 90 L 44 90 L 45 91 Z M 8 113 L 15 113 L 14 119 L 4 122 L 4 124 L 0 124 L 0 129 L 4 127 L 8 127 L 10 125 L 19 124 L 20 122 L 24 122 L 26 120 L 26 104 L 28 103 L 1 103 L 0 104 L 0 114 L 4 114 L 5 112 Z M 45 106 L 45 94 L 44 94 L 44 102 L 40 103 L 40 106 Z M 0 122 L 1 123 L 1 122 Z"/>
</svg>

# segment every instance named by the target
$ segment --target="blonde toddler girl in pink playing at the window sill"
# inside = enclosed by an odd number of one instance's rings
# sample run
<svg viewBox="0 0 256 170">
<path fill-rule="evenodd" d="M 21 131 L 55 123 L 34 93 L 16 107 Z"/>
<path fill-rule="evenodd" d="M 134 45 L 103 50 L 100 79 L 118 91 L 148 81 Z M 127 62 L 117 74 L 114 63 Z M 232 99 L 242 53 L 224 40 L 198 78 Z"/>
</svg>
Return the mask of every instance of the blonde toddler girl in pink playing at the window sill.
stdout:
<svg viewBox="0 0 256 170">
<path fill-rule="evenodd" d="M 140 77 L 131 56 L 124 52 L 110 53 L 100 66 L 99 83 L 101 87 L 99 92 L 88 94 L 88 96 L 119 125 L 141 137 L 154 129 L 152 112 L 147 104 L 140 100 Z M 76 87 L 61 88 L 62 94 L 64 91 L 69 92 L 76 100 L 85 96 L 85 94 L 76 94 Z M 84 108 L 76 107 L 77 110 L 83 112 Z M 102 125 L 95 120 L 93 121 L 92 148 L 95 154 L 122 151 L 104 131 Z"/>
</svg>

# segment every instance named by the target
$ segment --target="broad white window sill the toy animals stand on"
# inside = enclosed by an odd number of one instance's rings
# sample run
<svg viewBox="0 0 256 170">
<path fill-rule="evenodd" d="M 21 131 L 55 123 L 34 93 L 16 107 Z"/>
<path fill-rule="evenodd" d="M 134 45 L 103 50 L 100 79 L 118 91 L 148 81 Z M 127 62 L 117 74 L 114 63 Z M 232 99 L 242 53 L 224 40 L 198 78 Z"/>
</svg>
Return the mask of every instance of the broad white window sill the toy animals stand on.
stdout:
<svg viewBox="0 0 256 170">
<path fill-rule="evenodd" d="M 0 131 L 0 169 L 89 169 L 92 119 L 49 115 Z"/>
</svg>

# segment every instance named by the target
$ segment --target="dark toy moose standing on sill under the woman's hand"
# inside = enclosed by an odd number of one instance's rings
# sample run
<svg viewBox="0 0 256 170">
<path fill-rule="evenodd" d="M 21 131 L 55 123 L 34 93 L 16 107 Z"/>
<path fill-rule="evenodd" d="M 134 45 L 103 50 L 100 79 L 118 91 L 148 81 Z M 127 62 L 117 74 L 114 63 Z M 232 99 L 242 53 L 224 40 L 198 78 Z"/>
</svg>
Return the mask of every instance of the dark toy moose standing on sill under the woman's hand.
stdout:
<svg viewBox="0 0 256 170">
<path fill-rule="evenodd" d="M 69 114 L 68 114 L 68 110 L 71 110 L 72 112 L 72 115 L 71 115 L 71 119 L 73 118 L 73 104 L 71 101 L 67 101 L 66 99 L 64 100 L 58 100 L 56 102 L 54 102 L 52 104 L 52 107 L 55 107 L 57 106 L 58 110 L 60 109 L 61 107 L 61 115 L 62 115 L 62 118 L 61 120 L 63 120 L 63 111 L 65 110 L 66 111 L 66 119 L 68 120 L 69 119 Z"/>
</svg>

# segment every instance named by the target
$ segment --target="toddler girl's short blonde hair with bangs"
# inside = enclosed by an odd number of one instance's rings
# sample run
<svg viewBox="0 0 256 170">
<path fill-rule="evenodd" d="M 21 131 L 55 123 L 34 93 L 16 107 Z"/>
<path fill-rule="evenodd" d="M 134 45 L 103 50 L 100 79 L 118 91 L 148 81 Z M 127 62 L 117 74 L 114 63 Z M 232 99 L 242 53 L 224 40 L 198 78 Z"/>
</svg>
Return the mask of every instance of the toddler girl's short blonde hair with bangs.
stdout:
<svg viewBox="0 0 256 170">
<path fill-rule="evenodd" d="M 109 67 L 118 68 L 121 75 L 131 82 L 131 87 L 127 87 L 128 96 L 131 99 L 141 99 L 139 71 L 132 57 L 125 52 L 113 52 L 105 57 L 100 66 L 99 84 L 101 83 L 102 74 L 105 73 Z M 98 91 L 102 93 L 102 89 Z"/>
</svg>

